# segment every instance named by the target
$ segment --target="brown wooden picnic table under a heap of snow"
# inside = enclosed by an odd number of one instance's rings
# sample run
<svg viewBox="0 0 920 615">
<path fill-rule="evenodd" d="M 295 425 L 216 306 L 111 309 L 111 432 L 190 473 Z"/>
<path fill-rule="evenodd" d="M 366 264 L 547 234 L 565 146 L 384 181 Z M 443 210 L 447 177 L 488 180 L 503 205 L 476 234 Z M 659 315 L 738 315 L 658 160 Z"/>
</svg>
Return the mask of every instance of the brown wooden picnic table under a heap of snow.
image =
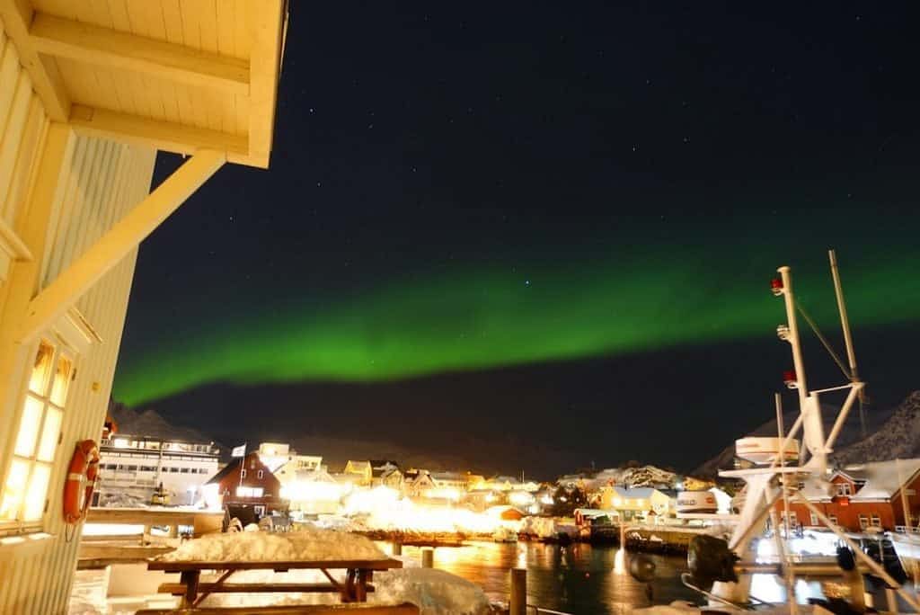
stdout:
<svg viewBox="0 0 920 615">
<path fill-rule="evenodd" d="M 168 562 L 150 560 L 147 570 L 162 570 L 178 573 L 178 583 L 164 583 L 159 586 L 160 593 L 181 596 L 181 608 L 191 609 L 201 604 L 201 600 L 215 593 L 251 593 L 251 592 L 330 592 L 338 593 L 342 602 L 365 602 L 367 594 L 374 591 L 371 581 L 374 571 L 402 568 L 399 560 L 314 560 L 294 562 Z M 201 571 L 222 571 L 216 581 L 201 583 Z M 226 580 L 240 570 L 273 570 L 286 573 L 289 570 L 318 570 L 328 579 L 328 583 L 226 583 Z M 344 581 L 339 581 L 330 570 L 345 570 Z"/>
</svg>

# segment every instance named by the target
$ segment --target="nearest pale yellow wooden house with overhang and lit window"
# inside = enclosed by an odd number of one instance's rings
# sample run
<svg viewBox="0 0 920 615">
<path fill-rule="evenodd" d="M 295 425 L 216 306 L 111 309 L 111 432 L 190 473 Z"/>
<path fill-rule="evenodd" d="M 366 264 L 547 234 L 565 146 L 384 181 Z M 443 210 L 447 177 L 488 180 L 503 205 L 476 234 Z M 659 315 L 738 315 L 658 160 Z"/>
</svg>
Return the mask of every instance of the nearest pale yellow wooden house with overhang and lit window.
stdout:
<svg viewBox="0 0 920 615">
<path fill-rule="evenodd" d="M 67 610 L 63 487 L 138 244 L 226 162 L 268 166 L 285 24 L 285 0 L 0 0 L 0 612 Z M 189 158 L 150 191 L 157 151 Z"/>
</svg>

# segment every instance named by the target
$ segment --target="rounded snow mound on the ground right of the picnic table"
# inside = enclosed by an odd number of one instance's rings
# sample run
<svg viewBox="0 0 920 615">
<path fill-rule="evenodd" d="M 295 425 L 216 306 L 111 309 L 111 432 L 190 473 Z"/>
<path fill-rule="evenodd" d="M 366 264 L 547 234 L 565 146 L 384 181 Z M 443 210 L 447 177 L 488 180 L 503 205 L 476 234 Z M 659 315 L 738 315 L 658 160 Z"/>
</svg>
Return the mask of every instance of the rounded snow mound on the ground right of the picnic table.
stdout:
<svg viewBox="0 0 920 615">
<path fill-rule="evenodd" d="M 373 600 L 381 604 L 410 602 L 421 615 L 483 615 L 490 612 L 482 588 L 434 568 L 404 568 L 374 574 Z"/>
</svg>

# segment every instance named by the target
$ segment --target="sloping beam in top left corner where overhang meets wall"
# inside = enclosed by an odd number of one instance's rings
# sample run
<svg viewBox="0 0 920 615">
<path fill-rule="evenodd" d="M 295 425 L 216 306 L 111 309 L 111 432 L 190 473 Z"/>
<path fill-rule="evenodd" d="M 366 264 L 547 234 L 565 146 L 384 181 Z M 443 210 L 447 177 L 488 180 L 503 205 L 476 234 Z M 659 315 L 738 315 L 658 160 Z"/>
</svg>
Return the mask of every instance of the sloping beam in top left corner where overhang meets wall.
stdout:
<svg viewBox="0 0 920 615">
<path fill-rule="evenodd" d="M 29 39 L 33 10 L 29 0 L 0 0 L 0 19 L 19 53 L 19 62 L 26 67 L 32 87 L 39 95 L 45 112 L 54 122 L 66 122 L 70 117 L 70 96 L 53 58 L 42 57 Z"/>
</svg>

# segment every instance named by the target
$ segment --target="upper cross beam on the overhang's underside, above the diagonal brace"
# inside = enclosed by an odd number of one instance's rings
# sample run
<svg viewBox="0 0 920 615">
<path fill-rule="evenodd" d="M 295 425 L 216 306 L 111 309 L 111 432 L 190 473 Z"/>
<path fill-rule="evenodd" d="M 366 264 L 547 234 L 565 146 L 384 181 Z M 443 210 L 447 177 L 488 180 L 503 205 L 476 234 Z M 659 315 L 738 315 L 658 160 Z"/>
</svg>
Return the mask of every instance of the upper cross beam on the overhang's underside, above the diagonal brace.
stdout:
<svg viewBox="0 0 920 615">
<path fill-rule="evenodd" d="M 35 14 L 29 35 L 32 45 L 42 53 L 230 94 L 249 94 L 246 60 L 44 13 Z"/>
</svg>

